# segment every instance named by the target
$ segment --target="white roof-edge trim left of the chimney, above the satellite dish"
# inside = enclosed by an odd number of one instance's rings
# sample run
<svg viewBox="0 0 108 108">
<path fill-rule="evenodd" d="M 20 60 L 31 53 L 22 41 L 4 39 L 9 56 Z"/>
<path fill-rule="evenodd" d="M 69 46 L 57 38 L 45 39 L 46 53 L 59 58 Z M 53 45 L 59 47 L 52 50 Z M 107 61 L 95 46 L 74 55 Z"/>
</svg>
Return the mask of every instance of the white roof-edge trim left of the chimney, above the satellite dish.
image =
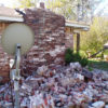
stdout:
<svg viewBox="0 0 108 108">
<path fill-rule="evenodd" d="M 3 22 L 23 22 L 23 17 L 10 17 L 10 16 L 0 16 L 0 21 Z"/>
</svg>

